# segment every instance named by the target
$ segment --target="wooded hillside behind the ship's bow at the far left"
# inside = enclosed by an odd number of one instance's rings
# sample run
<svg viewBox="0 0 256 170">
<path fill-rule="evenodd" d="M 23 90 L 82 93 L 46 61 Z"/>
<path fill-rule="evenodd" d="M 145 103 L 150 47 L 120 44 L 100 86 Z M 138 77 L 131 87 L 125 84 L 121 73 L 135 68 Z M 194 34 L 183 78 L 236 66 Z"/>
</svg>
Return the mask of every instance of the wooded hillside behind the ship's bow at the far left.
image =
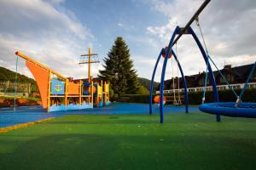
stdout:
<svg viewBox="0 0 256 170">
<path fill-rule="evenodd" d="M 6 69 L 4 67 L 0 66 L 0 81 L 1 82 L 15 82 L 15 71 L 10 71 L 9 69 Z M 25 75 L 21 75 L 20 73 L 17 74 L 17 81 L 18 82 L 31 82 L 32 84 L 35 84 L 35 80 L 29 77 L 26 77 Z"/>
</svg>

